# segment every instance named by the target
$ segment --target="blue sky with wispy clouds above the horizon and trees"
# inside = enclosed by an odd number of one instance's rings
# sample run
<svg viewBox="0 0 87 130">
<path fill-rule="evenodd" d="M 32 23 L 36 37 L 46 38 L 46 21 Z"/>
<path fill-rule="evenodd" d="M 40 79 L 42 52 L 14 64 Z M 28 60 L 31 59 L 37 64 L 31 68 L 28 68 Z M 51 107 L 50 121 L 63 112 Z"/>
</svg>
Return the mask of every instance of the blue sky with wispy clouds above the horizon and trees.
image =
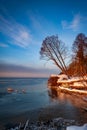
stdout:
<svg viewBox="0 0 87 130">
<path fill-rule="evenodd" d="M 87 36 L 86 0 L 0 0 L 0 77 L 58 74 L 40 59 L 43 40 L 58 35 L 71 55 L 79 33 Z"/>
</svg>

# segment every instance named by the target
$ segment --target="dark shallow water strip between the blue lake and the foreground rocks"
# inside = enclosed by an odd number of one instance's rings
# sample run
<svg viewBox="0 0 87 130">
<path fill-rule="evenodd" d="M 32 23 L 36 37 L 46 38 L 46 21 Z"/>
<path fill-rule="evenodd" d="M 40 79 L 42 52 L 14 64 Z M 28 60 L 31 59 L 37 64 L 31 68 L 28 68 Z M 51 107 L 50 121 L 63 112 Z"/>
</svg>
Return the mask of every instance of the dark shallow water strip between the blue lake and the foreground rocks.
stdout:
<svg viewBox="0 0 87 130">
<path fill-rule="evenodd" d="M 36 110 L 27 111 L 24 113 L 20 113 L 18 115 L 10 116 L 8 118 L 3 119 L 4 121 L 2 125 L 0 126 L 0 129 L 4 128 L 3 126 L 6 126 L 7 124 L 19 124 L 25 123 L 27 120 L 29 120 L 31 123 L 34 122 L 47 122 L 49 120 L 57 119 L 57 118 L 63 118 L 67 119 L 68 121 L 74 120 L 73 125 L 83 125 L 87 123 L 87 112 L 85 112 L 82 109 L 77 108 L 76 115 L 73 115 L 70 113 L 69 110 L 60 110 L 61 108 L 57 105 L 54 106 L 47 106 L 45 108 L 40 108 Z M 68 114 L 69 113 L 69 114 Z M 1 122 L 1 119 L 0 119 Z M 1 123 L 0 123 L 1 124 Z M 71 125 L 71 124 L 70 124 Z"/>
</svg>

